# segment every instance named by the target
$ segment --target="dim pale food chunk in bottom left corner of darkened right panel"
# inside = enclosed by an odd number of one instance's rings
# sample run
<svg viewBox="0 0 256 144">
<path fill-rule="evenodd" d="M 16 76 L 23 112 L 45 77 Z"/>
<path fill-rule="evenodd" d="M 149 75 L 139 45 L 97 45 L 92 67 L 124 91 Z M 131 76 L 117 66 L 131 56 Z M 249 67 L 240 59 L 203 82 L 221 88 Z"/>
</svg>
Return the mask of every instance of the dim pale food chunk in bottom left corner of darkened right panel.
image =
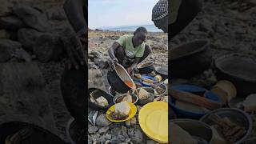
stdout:
<svg viewBox="0 0 256 144">
<path fill-rule="evenodd" d="M 170 143 L 171 144 L 197 144 L 198 142 L 191 135 L 174 122 L 170 122 Z"/>
</svg>

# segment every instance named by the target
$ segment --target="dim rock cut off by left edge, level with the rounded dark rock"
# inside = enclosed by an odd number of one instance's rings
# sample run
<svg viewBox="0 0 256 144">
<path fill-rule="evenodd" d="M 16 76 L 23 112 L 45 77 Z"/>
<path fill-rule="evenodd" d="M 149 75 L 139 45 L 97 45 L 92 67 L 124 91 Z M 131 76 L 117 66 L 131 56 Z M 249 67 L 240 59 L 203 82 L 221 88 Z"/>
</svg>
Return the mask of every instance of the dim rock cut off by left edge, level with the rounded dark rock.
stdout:
<svg viewBox="0 0 256 144">
<path fill-rule="evenodd" d="M 0 62 L 9 60 L 16 49 L 20 49 L 22 44 L 10 39 L 0 38 Z"/>
</svg>

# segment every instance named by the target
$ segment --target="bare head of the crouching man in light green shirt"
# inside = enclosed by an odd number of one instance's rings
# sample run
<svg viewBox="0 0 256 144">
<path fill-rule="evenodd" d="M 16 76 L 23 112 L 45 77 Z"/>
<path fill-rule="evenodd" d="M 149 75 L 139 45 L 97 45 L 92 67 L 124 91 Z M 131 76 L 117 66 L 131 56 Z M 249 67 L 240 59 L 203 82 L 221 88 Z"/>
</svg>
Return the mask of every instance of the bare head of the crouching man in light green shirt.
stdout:
<svg viewBox="0 0 256 144">
<path fill-rule="evenodd" d="M 139 46 L 142 44 L 142 42 L 145 42 L 146 34 L 147 34 L 147 30 L 145 27 L 138 27 L 134 31 L 134 38 L 133 38 L 134 46 Z"/>
</svg>

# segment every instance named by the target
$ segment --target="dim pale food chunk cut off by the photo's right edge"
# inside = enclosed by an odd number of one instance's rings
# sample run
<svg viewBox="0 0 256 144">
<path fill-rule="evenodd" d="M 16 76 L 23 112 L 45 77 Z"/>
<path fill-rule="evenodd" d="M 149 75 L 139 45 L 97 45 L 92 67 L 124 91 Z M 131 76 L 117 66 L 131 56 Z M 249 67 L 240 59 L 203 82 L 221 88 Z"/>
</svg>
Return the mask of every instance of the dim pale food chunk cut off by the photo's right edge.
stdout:
<svg viewBox="0 0 256 144">
<path fill-rule="evenodd" d="M 256 94 L 250 94 L 242 105 L 245 107 L 246 111 L 256 111 Z"/>
</svg>

